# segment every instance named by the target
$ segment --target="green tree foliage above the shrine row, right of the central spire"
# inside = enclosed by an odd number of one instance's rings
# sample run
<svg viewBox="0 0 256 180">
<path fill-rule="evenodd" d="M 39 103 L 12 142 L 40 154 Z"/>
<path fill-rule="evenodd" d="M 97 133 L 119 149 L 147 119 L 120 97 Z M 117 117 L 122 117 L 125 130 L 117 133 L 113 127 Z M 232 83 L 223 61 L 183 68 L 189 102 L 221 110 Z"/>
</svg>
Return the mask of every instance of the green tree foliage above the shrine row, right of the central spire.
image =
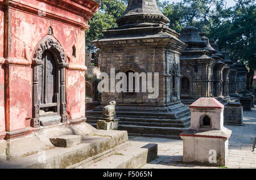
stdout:
<svg viewBox="0 0 256 180">
<path fill-rule="evenodd" d="M 220 49 L 231 58 L 240 57 L 252 70 L 256 69 L 255 0 L 234 0 L 236 6 L 226 8 L 226 0 L 183 0 L 179 3 L 157 1 L 158 7 L 177 32 L 192 25 L 217 40 Z"/>
</svg>

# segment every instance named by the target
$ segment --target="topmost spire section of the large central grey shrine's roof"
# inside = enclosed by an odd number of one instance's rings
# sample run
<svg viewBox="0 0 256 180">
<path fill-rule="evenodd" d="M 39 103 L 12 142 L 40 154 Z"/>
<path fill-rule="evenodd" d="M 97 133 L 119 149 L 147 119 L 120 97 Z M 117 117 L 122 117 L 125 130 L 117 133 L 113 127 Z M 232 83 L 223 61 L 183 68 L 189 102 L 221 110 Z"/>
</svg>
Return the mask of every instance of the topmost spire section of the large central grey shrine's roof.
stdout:
<svg viewBox="0 0 256 180">
<path fill-rule="evenodd" d="M 119 27 L 125 24 L 167 24 L 170 20 L 160 12 L 155 0 L 129 0 L 125 13 L 117 20 Z"/>
</svg>

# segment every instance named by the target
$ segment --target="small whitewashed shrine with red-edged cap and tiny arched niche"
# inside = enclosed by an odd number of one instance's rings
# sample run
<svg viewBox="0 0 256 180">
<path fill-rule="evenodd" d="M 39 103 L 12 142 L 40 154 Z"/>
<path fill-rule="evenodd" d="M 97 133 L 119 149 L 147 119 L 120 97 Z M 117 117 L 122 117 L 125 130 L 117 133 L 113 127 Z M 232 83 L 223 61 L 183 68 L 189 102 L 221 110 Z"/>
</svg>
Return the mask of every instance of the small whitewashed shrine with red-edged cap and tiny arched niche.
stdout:
<svg viewBox="0 0 256 180">
<path fill-rule="evenodd" d="M 189 106 L 191 128 L 180 134 L 183 162 L 225 166 L 231 130 L 223 126 L 224 105 L 215 98 L 199 98 Z"/>
</svg>

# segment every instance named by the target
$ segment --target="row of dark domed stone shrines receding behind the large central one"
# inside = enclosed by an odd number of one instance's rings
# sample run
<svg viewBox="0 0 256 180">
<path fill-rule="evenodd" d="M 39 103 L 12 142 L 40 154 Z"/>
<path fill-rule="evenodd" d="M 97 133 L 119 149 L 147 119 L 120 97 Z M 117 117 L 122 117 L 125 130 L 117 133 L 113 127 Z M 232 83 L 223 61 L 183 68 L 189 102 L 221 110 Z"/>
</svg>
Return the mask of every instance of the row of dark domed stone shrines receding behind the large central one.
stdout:
<svg viewBox="0 0 256 180">
<path fill-rule="evenodd" d="M 251 110 L 254 96 L 246 86 L 246 66 L 238 58 L 231 60 L 225 50 L 220 52 L 215 41 L 205 35 L 204 32 L 198 33 L 195 27 L 185 27 L 181 32 L 180 39 L 188 48 L 181 52 L 180 72 L 174 72 L 180 73 L 180 100 L 190 105 L 200 97 L 215 97 L 225 105 L 240 101 L 243 110 Z M 98 53 L 93 53 L 93 56 L 95 66 L 100 66 Z M 91 62 L 91 58 L 86 62 Z M 88 84 L 88 94 L 92 95 L 94 102 L 98 101 L 96 86 L 97 83 Z"/>
</svg>

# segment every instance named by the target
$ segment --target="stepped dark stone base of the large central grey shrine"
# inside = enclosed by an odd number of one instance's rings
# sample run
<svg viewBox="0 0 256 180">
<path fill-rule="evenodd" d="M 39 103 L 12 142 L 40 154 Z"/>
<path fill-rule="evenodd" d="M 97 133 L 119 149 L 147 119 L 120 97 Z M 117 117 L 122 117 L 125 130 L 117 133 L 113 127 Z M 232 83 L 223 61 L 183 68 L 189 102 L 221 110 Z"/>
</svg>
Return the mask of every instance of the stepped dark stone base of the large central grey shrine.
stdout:
<svg viewBox="0 0 256 180">
<path fill-rule="evenodd" d="M 86 122 L 96 127 L 102 119 L 102 108 L 86 111 Z M 116 105 L 118 130 L 126 130 L 133 136 L 151 136 L 180 139 L 179 134 L 190 126 L 190 111 L 180 101 L 166 106 Z"/>
</svg>

